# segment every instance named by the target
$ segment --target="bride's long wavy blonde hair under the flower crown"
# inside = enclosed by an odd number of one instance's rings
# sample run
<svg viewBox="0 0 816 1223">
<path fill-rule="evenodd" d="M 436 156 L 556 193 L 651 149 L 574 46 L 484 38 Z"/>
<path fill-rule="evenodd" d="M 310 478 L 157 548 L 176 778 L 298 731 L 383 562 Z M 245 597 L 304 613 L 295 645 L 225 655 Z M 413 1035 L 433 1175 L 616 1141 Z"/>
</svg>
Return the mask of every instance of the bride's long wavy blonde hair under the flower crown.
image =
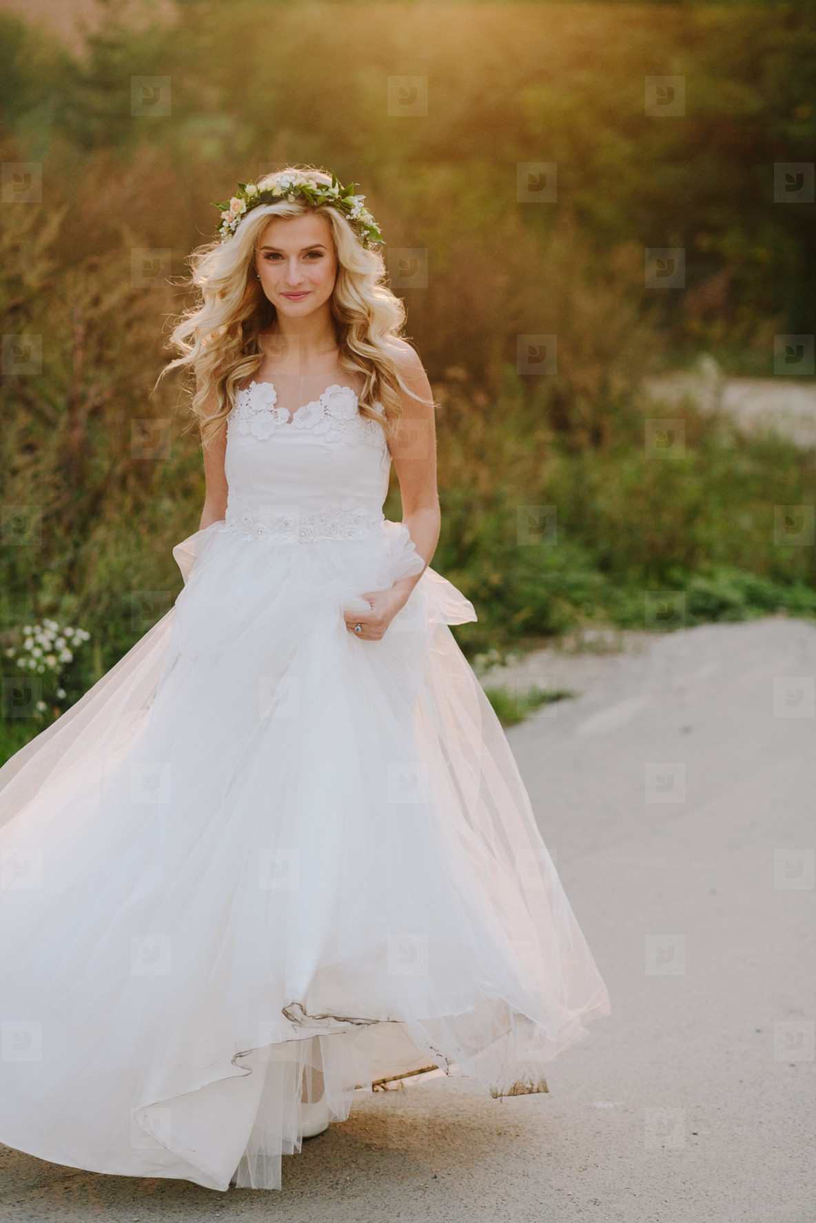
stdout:
<svg viewBox="0 0 816 1223">
<path fill-rule="evenodd" d="M 280 174 L 301 174 L 314 182 L 330 183 L 325 171 L 287 168 Z M 258 186 L 278 177 L 269 175 Z M 332 291 L 332 318 L 340 350 L 340 366 L 363 378 L 360 412 L 379 421 L 391 435 L 400 419 L 400 391 L 417 397 L 401 378 L 396 349 L 405 307 L 383 283 L 385 268 L 377 251 L 366 249 L 343 214 L 330 204 L 311 207 L 301 201 L 261 204 L 239 224 L 226 242 L 208 242 L 190 257 L 190 284 L 201 294 L 197 307 L 187 311 L 174 328 L 169 346 L 181 353 L 163 371 L 181 367 L 196 374 L 191 408 L 202 442 L 221 433 L 232 408 L 237 385 L 254 373 L 263 360 L 258 336 L 276 318 L 254 275 L 254 249 L 274 216 L 324 216 L 334 241 L 338 274 Z M 212 411 L 213 400 L 217 410 Z M 379 411 L 377 405 L 382 405 Z"/>
</svg>

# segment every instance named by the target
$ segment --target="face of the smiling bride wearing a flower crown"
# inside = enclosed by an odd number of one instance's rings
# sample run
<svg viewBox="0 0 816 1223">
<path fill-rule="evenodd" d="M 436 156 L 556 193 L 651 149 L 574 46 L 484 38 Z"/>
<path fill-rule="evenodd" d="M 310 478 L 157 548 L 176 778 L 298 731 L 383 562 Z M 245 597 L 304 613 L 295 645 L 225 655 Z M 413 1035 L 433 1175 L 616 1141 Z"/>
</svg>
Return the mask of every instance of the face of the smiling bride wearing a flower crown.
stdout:
<svg viewBox="0 0 816 1223">
<path fill-rule="evenodd" d="M 338 274 L 329 223 L 317 213 L 273 216 L 258 238 L 254 265 L 280 314 L 302 318 L 319 309 Z"/>
</svg>

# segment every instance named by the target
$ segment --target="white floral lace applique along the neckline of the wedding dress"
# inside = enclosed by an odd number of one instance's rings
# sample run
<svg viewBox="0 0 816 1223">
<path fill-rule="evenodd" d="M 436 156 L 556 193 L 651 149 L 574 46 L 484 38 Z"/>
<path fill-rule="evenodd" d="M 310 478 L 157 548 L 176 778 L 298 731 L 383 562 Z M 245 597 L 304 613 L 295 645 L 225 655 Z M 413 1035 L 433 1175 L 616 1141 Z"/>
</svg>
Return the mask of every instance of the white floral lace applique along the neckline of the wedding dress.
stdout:
<svg viewBox="0 0 816 1223">
<path fill-rule="evenodd" d="M 278 393 L 272 383 L 251 382 L 235 396 L 230 418 L 235 419 L 239 433 L 251 433 L 265 442 L 279 424 L 291 424 L 296 429 L 311 429 L 327 442 L 346 445 L 385 445 L 382 424 L 361 416 L 360 401 L 350 386 L 334 383 L 327 386 L 319 399 L 303 404 L 294 412 L 276 407 Z"/>
</svg>

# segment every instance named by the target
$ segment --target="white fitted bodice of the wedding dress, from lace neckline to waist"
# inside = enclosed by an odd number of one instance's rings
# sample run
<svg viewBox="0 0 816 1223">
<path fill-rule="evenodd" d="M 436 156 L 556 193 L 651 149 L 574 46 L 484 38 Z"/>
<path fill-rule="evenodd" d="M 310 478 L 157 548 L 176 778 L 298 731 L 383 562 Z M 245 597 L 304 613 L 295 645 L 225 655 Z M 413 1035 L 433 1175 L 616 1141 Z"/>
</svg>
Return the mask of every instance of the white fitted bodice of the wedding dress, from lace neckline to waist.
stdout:
<svg viewBox="0 0 816 1223">
<path fill-rule="evenodd" d="M 390 453 L 350 386 L 291 416 L 273 383 L 252 382 L 228 417 L 226 527 L 276 539 L 347 539 L 383 520 Z"/>
</svg>

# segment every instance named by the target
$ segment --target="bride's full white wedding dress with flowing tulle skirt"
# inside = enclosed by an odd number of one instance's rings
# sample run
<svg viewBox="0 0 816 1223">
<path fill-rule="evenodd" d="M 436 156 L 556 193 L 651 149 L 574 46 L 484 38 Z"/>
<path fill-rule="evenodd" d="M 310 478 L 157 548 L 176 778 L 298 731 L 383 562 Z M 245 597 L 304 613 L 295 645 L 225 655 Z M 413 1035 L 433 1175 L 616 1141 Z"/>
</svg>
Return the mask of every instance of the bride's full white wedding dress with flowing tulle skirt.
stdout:
<svg viewBox="0 0 816 1223">
<path fill-rule="evenodd" d="M 335 1121 L 421 1068 L 544 1091 L 608 1011 L 448 629 L 472 605 L 428 569 L 382 641 L 346 629 L 422 569 L 389 467 L 351 389 L 241 391 L 175 607 L 0 770 L 9 1146 L 276 1189 L 305 1073 Z"/>
</svg>

